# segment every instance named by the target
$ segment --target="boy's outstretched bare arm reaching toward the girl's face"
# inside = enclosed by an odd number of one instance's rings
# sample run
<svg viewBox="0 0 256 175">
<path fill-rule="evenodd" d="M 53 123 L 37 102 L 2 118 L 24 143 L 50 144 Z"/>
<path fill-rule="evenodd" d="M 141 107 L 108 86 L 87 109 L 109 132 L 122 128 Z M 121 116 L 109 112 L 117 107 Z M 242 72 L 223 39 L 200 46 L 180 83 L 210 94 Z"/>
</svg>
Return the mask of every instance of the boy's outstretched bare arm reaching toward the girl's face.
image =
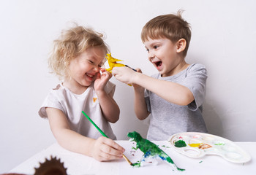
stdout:
<svg viewBox="0 0 256 175">
<path fill-rule="evenodd" d="M 154 79 L 127 67 L 115 67 L 112 74 L 121 82 L 140 85 L 173 104 L 185 106 L 194 101 L 189 88 L 175 82 Z"/>
</svg>

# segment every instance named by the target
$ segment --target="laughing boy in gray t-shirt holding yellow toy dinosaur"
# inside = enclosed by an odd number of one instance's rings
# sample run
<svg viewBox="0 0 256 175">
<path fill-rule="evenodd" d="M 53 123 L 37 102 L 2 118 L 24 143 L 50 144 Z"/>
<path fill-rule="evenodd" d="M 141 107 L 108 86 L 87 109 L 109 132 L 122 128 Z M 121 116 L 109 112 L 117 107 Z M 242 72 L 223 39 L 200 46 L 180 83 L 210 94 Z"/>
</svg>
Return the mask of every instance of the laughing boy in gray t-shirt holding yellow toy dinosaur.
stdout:
<svg viewBox="0 0 256 175">
<path fill-rule="evenodd" d="M 127 67 L 112 71 L 116 79 L 133 85 L 138 119 L 151 114 L 149 140 L 167 140 L 180 132 L 207 132 L 202 116 L 207 71 L 201 64 L 185 61 L 191 31 L 181 13 L 157 16 L 143 27 L 141 39 L 158 74 L 148 77 L 140 69 Z"/>
</svg>

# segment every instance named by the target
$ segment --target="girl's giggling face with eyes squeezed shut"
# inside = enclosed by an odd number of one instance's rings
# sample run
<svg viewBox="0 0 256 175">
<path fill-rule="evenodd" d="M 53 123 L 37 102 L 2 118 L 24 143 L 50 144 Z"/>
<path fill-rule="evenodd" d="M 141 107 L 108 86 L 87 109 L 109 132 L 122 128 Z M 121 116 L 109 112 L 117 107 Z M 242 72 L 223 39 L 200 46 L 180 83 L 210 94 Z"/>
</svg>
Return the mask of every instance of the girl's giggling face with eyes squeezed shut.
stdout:
<svg viewBox="0 0 256 175">
<path fill-rule="evenodd" d="M 69 64 L 69 85 L 72 88 L 87 88 L 97 78 L 105 58 L 102 47 L 89 47 Z"/>
</svg>

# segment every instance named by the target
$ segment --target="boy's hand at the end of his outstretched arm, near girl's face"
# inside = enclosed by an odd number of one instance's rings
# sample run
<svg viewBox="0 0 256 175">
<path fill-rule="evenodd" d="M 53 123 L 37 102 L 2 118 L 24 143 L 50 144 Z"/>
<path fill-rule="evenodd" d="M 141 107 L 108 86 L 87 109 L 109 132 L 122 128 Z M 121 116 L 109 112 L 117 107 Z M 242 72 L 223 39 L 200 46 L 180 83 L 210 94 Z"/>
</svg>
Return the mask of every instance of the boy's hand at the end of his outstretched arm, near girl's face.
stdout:
<svg viewBox="0 0 256 175">
<path fill-rule="evenodd" d="M 112 74 L 116 79 L 118 79 L 120 82 L 124 82 L 126 84 L 133 84 L 132 82 L 133 77 L 135 76 L 137 72 L 133 71 L 132 69 L 128 67 L 114 67 L 112 70 Z"/>
</svg>

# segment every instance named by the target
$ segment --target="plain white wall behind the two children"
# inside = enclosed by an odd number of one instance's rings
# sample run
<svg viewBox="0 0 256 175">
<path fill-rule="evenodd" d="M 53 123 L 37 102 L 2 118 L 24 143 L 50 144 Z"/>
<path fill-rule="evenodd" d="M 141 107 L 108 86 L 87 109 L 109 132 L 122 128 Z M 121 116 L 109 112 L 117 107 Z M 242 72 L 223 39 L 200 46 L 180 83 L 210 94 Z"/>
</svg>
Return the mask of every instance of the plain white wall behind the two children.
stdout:
<svg viewBox="0 0 256 175">
<path fill-rule="evenodd" d="M 37 114 L 50 88 L 59 82 L 48 73 L 53 39 L 71 22 L 105 34 L 113 57 L 144 74 L 157 71 L 140 40 L 145 23 L 184 9 L 191 23 L 188 63 L 208 69 L 204 119 L 209 133 L 232 141 L 256 141 L 255 1 L 1 1 L 0 2 L 0 173 L 48 147 L 55 139 L 48 120 Z M 133 88 L 116 84 L 121 109 L 113 126 L 118 139 L 129 131 L 146 136 L 148 121 L 133 110 Z"/>
</svg>

